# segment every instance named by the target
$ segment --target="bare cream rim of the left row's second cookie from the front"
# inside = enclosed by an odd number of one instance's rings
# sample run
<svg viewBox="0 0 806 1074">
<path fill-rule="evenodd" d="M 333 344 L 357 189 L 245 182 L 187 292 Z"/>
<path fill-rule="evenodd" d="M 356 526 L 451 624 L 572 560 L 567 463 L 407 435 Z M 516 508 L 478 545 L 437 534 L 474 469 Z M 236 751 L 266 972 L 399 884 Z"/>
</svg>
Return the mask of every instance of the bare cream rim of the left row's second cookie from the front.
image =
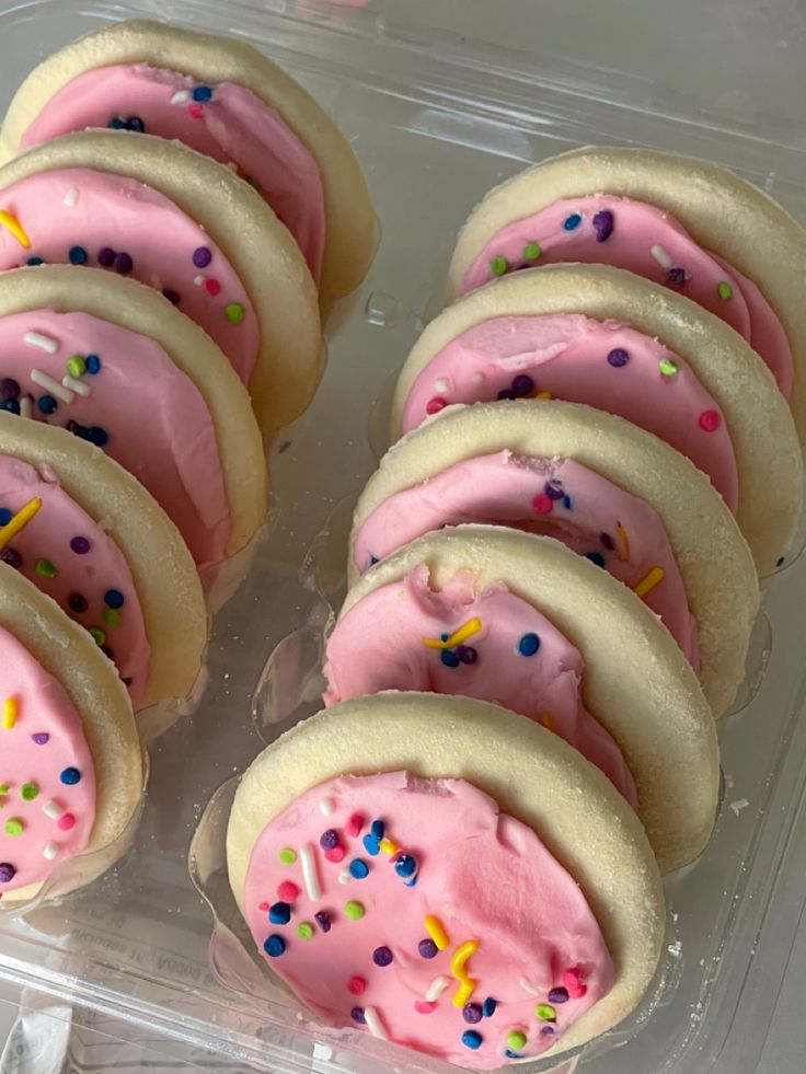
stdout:
<svg viewBox="0 0 806 1074">
<path fill-rule="evenodd" d="M 196 568 L 173 522 L 130 474 L 99 448 L 64 429 L 0 413 L 0 455 L 27 464 L 44 475 L 46 483 L 58 485 L 96 524 L 99 536 L 108 536 L 123 553 L 150 647 L 148 682 L 138 707 L 187 696 L 202 670 L 208 619 Z M 21 477 L 20 483 L 25 480 Z M 47 520 L 46 511 L 44 503 L 43 518 Z M 48 526 L 53 529 L 51 523 Z M 24 532 L 20 541 L 23 536 Z M 67 574 L 68 568 L 79 569 L 71 561 L 87 559 L 92 567 L 93 541 L 83 533 L 65 532 L 61 536 L 62 557 L 44 573 L 37 570 L 46 589 L 57 585 L 59 570 Z M 9 550 L 23 546 L 14 541 L 4 545 L 4 557 Z M 8 562 L 13 564 L 14 559 Z M 90 585 L 89 577 L 85 585 Z M 105 590 L 107 584 L 102 586 L 99 578 L 95 585 Z M 101 590 L 92 592 L 82 586 L 81 594 L 84 603 L 97 602 Z M 112 607 L 115 604 L 117 608 Z M 113 617 L 97 622 L 107 635 L 103 642 L 99 637 L 99 644 L 108 642 L 114 649 L 115 626 L 111 624 L 116 617 L 125 619 L 127 609 L 113 598 L 107 610 Z"/>
</svg>

